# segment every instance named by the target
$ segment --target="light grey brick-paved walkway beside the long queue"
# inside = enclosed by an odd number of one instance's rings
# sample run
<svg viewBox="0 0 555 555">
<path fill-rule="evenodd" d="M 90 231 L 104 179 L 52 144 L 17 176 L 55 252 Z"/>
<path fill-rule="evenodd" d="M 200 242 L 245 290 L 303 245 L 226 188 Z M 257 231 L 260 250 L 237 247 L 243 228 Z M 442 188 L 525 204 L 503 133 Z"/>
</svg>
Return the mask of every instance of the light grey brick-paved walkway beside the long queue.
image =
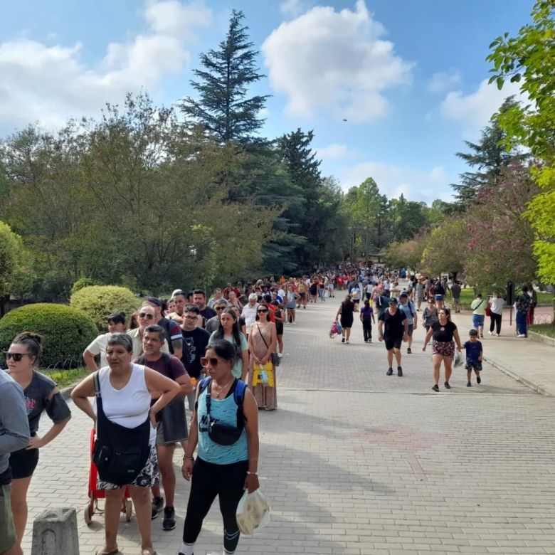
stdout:
<svg viewBox="0 0 555 555">
<path fill-rule="evenodd" d="M 300 310 L 285 328 L 279 408 L 260 412 L 260 482 L 272 524 L 243 537 L 251 554 L 555 553 L 555 398 L 524 387 L 487 362 L 482 385 L 433 393 L 430 353 L 403 354 L 405 375 L 386 376 L 382 344 L 329 339 L 339 296 Z M 486 339 L 486 353 L 512 339 Z M 516 343 L 524 349 L 527 342 Z M 534 345 L 535 347 L 535 345 Z M 530 358 L 532 360 L 532 358 Z M 46 422 L 43 423 L 43 428 Z M 79 411 L 43 450 L 29 493 L 30 520 L 73 505 L 82 554 L 102 546 L 102 517 L 87 527 L 90 421 Z M 179 458 L 176 453 L 176 472 Z M 178 527 L 152 522 L 159 555 L 176 555 L 189 485 L 178 479 Z M 29 530 L 31 527 L 29 527 Z M 196 555 L 221 554 L 217 504 Z M 120 549 L 138 553 L 135 519 L 120 524 Z M 30 553 L 31 534 L 25 539 Z"/>
</svg>

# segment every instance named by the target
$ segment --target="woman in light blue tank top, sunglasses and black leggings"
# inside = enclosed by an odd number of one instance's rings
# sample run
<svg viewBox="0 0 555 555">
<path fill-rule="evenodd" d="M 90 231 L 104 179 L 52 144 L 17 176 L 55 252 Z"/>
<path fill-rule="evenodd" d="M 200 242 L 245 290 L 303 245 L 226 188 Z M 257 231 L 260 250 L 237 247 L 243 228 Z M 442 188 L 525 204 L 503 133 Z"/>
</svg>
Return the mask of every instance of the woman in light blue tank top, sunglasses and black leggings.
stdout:
<svg viewBox="0 0 555 555">
<path fill-rule="evenodd" d="M 223 517 L 223 553 L 235 553 L 239 542 L 236 520 L 237 505 L 244 490 L 258 490 L 258 410 L 253 394 L 245 388 L 243 398 L 244 427 L 236 443 L 221 445 L 208 434 L 210 417 L 236 428 L 238 406 L 234 391 L 238 379 L 233 377 L 236 349 L 230 342 L 216 339 L 206 348 L 201 361 L 208 375 L 202 391 L 197 390 L 196 406 L 191 419 L 189 443 L 181 472 L 191 480 L 191 492 L 183 527 L 183 544 L 179 555 L 193 555 L 194 544 L 202 529 L 206 514 L 219 497 Z M 200 393 L 199 393 L 200 392 Z M 197 458 L 193 453 L 198 444 Z"/>
</svg>

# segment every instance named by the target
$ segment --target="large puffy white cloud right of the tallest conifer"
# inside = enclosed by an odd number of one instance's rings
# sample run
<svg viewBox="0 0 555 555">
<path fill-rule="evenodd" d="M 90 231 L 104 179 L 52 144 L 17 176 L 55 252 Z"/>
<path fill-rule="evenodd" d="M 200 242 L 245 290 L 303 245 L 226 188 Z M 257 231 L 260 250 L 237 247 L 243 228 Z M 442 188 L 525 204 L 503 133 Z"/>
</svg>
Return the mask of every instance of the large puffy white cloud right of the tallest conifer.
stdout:
<svg viewBox="0 0 555 555">
<path fill-rule="evenodd" d="M 317 6 L 282 23 L 262 46 L 270 84 L 287 96 L 287 115 L 330 110 L 352 122 L 384 116 L 384 90 L 411 82 L 411 64 L 384 41 L 364 0 L 354 11 Z"/>
</svg>

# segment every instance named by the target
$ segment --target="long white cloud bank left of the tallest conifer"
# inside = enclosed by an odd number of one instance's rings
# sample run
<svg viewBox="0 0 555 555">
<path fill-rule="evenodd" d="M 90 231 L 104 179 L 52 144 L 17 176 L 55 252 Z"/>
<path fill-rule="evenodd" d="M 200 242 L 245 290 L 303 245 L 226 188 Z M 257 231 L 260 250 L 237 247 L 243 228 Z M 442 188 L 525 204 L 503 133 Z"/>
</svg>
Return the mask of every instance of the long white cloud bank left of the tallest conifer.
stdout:
<svg viewBox="0 0 555 555">
<path fill-rule="evenodd" d="M 58 127 L 68 117 L 96 114 L 105 102 L 120 102 L 127 91 L 156 89 L 189 63 L 187 37 L 208 25 L 209 14 L 201 4 L 150 1 L 144 11 L 147 32 L 110 43 L 97 65 L 83 62 L 80 43 L 48 46 L 30 38 L 0 43 L 0 132 L 33 121 Z"/>
</svg>

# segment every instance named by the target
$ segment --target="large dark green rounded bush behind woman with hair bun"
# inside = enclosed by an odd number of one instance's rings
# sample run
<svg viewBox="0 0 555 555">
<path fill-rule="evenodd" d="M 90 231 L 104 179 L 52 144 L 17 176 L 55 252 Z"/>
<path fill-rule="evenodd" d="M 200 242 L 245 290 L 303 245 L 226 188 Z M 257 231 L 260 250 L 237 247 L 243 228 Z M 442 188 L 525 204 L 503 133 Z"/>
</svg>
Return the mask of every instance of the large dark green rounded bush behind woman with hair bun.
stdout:
<svg viewBox="0 0 555 555">
<path fill-rule="evenodd" d="M 37 303 L 8 312 L 0 320 L 0 350 L 7 351 L 20 332 L 43 336 L 41 367 L 80 366 L 85 347 L 98 332 L 90 317 L 68 305 Z"/>
</svg>

